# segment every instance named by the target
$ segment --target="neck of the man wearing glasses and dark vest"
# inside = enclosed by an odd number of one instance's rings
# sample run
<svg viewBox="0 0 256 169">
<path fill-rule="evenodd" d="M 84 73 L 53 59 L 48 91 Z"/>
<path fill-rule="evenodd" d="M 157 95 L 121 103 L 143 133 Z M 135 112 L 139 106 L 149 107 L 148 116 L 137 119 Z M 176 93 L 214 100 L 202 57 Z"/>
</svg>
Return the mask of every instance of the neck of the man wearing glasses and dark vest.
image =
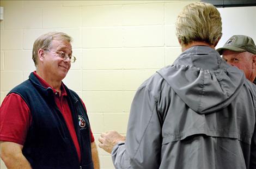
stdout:
<svg viewBox="0 0 256 169">
<path fill-rule="evenodd" d="M 53 87 L 55 90 L 57 90 L 60 94 L 60 86 L 62 85 L 62 80 L 57 80 L 52 78 L 51 75 L 44 73 L 44 71 L 41 71 L 39 68 L 36 68 L 36 73 L 45 80 L 51 87 Z"/>
</svg>

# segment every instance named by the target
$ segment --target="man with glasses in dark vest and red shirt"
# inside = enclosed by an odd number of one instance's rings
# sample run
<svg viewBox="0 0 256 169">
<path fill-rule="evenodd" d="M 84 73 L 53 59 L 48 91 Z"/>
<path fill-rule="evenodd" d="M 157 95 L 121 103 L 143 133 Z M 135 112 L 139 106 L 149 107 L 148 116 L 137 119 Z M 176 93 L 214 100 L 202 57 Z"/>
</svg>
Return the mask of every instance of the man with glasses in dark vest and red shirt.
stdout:
<svg viewBox="0 0 256 169">
<path fill-rule="evenodd" d="M 66 87 L 71 37 L 50 32 L 33 46 L 36 71 L 1 105 L 1 158 L 8 168 L 99 168 L 86 107 Z"/>
</svg>

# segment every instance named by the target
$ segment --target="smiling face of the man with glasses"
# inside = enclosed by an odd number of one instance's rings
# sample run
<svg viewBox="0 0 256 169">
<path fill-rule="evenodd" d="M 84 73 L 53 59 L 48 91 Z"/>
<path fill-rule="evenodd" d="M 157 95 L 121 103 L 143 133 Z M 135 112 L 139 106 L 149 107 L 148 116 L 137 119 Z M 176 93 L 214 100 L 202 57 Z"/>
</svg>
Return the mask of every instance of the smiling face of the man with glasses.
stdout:
<svg viewBox="0 0 256 169">
<path fill-rule="evenodd" d="M 70 59 L 64 60 L 59 57 L 59 52 L 72 55 L 71 44 L 66 41 L 52 40 L 51 48 L 44 50 L 42 67 L 44 74 L 47 74 L 48 78 L 61 81 L 66 77 L 66 74 L 70 69 L 71 62 Z"/>
</svg>

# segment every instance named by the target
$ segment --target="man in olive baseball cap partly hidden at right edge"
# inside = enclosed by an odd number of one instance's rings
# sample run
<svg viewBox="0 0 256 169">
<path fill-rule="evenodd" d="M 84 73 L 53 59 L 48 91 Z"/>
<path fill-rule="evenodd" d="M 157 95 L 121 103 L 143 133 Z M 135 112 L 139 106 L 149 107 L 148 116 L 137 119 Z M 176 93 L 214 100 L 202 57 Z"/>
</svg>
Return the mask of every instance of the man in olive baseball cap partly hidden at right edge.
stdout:
<svg viewBox="0 0 256 169">
<path fill-rule="evenodd" d="M 251 37 L 234 35 L 217 51 L 228 64 L 245 72 L 246 78 L 256 84 L 256 46 Z"/>
</svg>

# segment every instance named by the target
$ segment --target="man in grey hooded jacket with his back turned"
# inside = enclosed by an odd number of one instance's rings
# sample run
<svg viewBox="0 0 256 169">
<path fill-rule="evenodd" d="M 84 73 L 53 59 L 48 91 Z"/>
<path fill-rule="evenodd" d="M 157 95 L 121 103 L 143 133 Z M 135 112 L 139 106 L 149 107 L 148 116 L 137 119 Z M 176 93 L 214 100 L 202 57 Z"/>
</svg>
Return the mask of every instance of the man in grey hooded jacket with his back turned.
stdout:
<svg viewBox="0 0 256 169">
<path fill-rule="evenodd" d="M 214 5 L 187 5 L 176 21 L 182 53 L 137 90 L 126 139 L 102 133 L 116 168 L 256 168 L 256 86 L 215 51 Z"/>
</svg>

